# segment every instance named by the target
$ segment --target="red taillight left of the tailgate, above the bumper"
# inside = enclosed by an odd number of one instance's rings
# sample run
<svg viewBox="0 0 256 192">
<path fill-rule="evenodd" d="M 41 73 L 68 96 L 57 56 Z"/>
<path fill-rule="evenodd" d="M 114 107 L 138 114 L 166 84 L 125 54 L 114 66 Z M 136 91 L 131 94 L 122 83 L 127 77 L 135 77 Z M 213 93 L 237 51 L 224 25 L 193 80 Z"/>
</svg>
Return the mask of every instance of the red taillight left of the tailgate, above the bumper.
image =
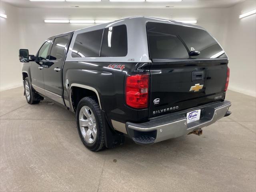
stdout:
<svg viewBox="0 0 256 192">
<path fill-rule="evenodd" d="M 125 97 L 128 106 L 138 109 L 148 107 L 148 76 L 127 76 Z"/>
</svg>

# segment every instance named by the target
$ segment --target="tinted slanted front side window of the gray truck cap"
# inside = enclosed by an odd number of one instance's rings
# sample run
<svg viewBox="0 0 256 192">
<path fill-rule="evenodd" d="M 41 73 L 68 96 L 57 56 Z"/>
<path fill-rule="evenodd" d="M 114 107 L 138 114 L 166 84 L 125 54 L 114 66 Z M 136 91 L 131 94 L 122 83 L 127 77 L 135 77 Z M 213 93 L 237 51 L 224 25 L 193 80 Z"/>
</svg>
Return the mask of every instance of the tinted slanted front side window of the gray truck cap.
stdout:
<svg viewBox="0 0 256 192">
<path fill-rule="evenodd" d="M 76 36 L 72 57 L 98 57 L 103 29 L 81 33 Z"/>
</svg>

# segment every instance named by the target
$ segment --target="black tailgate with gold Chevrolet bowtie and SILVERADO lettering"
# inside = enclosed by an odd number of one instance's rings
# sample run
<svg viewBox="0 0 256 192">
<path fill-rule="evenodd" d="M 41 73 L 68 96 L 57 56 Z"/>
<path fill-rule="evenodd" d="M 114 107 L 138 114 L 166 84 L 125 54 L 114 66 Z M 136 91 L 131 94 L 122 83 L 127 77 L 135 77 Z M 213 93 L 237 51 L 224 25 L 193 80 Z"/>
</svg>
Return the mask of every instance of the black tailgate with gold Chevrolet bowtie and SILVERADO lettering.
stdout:
<svg viewBox="0 0 256 192">
<path fill-rule="evenodd" d="M 227 64 L 152 63 L 149 116 L 224 99 Z"/>
</svg>

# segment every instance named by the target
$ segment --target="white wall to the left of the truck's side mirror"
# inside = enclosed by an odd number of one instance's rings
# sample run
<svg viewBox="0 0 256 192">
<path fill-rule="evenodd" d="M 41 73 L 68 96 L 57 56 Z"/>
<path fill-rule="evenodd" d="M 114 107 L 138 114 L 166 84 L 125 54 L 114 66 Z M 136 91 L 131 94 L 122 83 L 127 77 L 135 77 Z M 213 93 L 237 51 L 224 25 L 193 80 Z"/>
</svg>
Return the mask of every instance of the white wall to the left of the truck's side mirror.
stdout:
<svg viewBox="0 0 256 192">
<path fill-rule="evenodd" d="M 0 1 L 0 90 L 22 85 L 22 64 L 18 60 L 19 26 L 18 8 Z"/>
</svg>

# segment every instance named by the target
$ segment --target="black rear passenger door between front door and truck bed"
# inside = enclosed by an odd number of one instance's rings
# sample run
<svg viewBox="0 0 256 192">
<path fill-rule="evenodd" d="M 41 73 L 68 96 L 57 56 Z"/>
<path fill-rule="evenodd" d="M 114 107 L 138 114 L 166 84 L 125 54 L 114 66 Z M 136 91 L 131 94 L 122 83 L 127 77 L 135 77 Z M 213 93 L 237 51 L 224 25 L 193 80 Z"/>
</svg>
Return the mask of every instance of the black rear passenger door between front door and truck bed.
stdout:
<svg viewBox="0 0 256 192">
<path fill-rule="evenodd" d="M 70 34 L 56 36 L 52 43 L 49 60 L 43 65 L 45 94 L 60 104 L 64 104 L 62 99 L 62 66 L 69 40 Z"/>
</svg>

